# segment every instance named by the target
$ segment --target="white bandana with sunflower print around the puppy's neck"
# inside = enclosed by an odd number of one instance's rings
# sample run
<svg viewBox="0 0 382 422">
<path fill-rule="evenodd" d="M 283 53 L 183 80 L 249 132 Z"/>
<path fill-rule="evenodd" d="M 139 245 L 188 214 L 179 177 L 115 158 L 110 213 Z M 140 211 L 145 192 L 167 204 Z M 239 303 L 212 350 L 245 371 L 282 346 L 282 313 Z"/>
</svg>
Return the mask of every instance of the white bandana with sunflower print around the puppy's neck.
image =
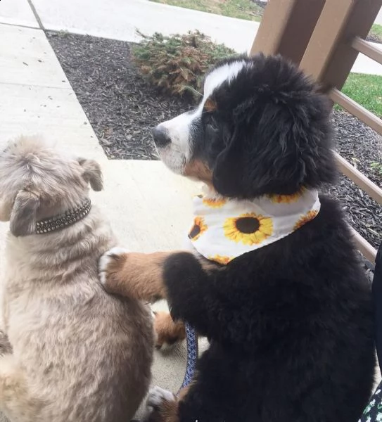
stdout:
<svg viewBox="0 0 382 422">
<path fill-rule="evenodd" d="M 189 239 L 208 260 L 228 264 L 246 252 L 293 233 L 317 216 L 317 191 L 235 200 L 207 194 L 193 199 Z"/>
</svg>

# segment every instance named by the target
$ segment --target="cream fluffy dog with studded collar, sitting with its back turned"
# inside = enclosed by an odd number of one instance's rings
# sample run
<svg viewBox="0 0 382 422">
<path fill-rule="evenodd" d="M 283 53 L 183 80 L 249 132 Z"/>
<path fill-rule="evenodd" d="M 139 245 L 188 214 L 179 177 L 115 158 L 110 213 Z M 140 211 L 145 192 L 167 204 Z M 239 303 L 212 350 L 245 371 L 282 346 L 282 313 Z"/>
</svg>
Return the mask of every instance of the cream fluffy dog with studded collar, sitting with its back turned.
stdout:
<svg viewBox="0 0 382 422">
<path fill-rule="evenodd" d="M 0 411 L 12 422 L 128 422 L 146 395 L 152 317 L 138 300 L 108 295 L 99 257 L 116 244 L 89 187 L 93 160 L 23 137 L 0 153 L 6 241 Z"/>
</svg>

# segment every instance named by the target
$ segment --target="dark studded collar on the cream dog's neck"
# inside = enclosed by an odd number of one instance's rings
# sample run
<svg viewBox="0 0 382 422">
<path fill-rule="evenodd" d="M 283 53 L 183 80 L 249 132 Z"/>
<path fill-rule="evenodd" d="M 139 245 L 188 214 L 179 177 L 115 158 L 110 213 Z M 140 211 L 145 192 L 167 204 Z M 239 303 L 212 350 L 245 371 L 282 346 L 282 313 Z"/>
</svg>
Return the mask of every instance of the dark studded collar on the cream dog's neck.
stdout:
<svg viewBox="0 0 382 422">
<path fill-rule="evenodd" d="M 50 217 L 48 219 L 40 220 L 36 223 L 35 234 L 49 234 L 52 231 L 58 231 L 65 229 L 65 227 L 75 224 L 80 219 L 86 217 L 91 210 L 90 199 L 84 200 L 84 202 L 72 210 L 68 210 L 61 215 Z"/>
</svg>

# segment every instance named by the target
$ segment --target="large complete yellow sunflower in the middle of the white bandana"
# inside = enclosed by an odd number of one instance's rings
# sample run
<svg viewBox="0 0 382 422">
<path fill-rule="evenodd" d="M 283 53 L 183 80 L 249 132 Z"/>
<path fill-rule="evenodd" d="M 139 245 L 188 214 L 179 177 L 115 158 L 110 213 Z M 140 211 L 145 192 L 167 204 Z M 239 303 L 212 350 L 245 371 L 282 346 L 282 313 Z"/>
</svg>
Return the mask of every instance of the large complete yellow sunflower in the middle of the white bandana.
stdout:
<svg viewBox="0 0 382 422">
<path fill-rule="evenodd" d="M 272 218 L 254 212 L 227 218 L 223 227 L 227 238 L 244 245 L 258 245 L 273 233 Z"/>
</svg>

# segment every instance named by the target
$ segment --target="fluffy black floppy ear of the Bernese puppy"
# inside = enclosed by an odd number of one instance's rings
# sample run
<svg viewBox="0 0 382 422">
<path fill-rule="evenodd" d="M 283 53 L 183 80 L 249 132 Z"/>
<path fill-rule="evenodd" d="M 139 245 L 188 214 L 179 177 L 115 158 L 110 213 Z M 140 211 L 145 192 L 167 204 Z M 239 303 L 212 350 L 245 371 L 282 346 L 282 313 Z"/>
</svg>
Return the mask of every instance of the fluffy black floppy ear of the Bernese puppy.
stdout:
<svg viewBox="0 0 382 422">
<path fill-rule="evenodd" d="M 260 95 L 234 110 L 234 133 L 215 162 L 213 183 L 226 196 L 253 198 L 318 188 L 336 179 L 326 98 Z M 275 98 L 276 97 L 276 98 Z"/>
</svg>

